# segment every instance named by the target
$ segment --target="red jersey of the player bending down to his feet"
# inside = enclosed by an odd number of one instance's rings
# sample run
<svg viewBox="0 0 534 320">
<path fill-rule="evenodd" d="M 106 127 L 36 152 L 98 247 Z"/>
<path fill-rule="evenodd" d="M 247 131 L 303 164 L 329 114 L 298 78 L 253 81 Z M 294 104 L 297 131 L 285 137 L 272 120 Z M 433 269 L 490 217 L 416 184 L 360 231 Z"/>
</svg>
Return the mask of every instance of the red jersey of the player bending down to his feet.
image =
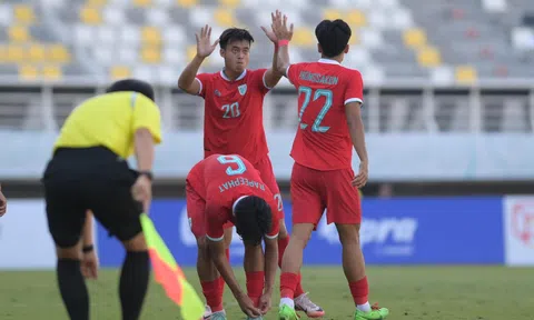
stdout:
<svg viewBox="0 0 534 320">
<path fill-rule="evenodd" d="M 273 213 L 273 228 L 266 234 L 274 238 L 279 231 L 277 203 L 265 186 L 259 171 L 237 154 L 211 154 L 192 167 L 187 176 L 195 191 L 206 201 L 206 236 L 215 241 L 224 237 L 222 226 L 234 220 L 234 204 L 241 197 L 264 199 Z"/>
</svg>

